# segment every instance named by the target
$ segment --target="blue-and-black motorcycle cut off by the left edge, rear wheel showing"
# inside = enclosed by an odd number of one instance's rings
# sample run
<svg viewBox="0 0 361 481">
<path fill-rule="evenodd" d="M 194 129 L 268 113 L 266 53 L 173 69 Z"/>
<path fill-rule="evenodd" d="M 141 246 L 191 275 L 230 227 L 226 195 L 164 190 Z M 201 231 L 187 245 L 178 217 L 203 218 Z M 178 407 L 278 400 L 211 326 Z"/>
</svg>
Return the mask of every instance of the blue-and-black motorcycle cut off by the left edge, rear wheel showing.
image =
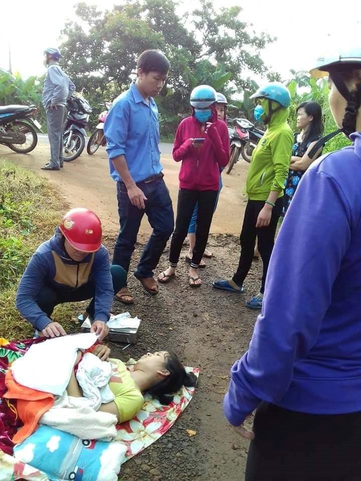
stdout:
<svg viewBox="0 0 361 481">
<path fill-rule="evenodd" d="M 33 119 L 38 108 L 35 105 L 5 105 L 0 107 L 0 144 L 14 152 L 27 154 L 38 143 L 36 128 L 40 123 Z"/>
</svg>

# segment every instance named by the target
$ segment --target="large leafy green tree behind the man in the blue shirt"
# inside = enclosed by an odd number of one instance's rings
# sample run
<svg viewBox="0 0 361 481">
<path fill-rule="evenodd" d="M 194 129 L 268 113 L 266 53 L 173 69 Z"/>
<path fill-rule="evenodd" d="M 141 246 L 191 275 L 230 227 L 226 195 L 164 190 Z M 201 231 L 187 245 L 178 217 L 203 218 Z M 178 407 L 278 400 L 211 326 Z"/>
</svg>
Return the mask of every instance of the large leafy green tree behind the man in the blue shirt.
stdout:
<svg viewBox="0 0 361 481">
<path fill-rule="evenodd" d="M 162 51 L 171 64 L 168 85 L 157 99 L 162 136 L 173 134 L 189 112 L 196 85 L 210 83 L 230 95 L 251 88 L 244 71 L 267 72 L 259 54 L 273 39 L 250 35 L 240 7 L 216 10 L 201 0 L 201 8 L 183 18 L 176 7 L 174 0 L 135 0 L 106 12 L 77 5 L 76 20 L 63 30 L 62 65 L 93 107 L 91 127 L 104 109 L 101 102 L 129 87 L 136 59 L 146 49 Z"/>
</svg>

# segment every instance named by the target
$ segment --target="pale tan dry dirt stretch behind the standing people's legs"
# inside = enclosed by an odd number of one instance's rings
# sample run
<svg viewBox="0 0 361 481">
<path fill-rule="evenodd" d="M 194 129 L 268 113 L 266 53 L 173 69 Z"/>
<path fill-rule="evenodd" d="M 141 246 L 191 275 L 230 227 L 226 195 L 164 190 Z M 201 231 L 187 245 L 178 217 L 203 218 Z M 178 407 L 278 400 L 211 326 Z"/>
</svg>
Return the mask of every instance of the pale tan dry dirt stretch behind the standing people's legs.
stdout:
<svg viewBox="0 0 361 481">
<path fill-rule="evenodd" d="M 169 148 L 167 151 L 169 152 Z M 0 145 L 0 158 L 6 158 L 24 165 L 50 179 L 63 193 L 72 207 L 88 207 L 101 218 L 104 230 L 114 233 L 118 229 L 118 212 L 115 182 L 108 170 L 105 149 L 100 148 L 95 155 L 83 153 L 73 162 L 65 163 L 60 171 L 41 170 L 49 158 L 49 146 L 38 144 L 30 154 L 17 154 Z M 178 193 L 179 164 L 168 154 L 162 155 L 164 179 L 169 188 L 174 209 Z M 223 174 L 223 190 L 213 218 L 211 232 L 239 234 L 243 219 L 246 197 L 245 178 L 248 164 L 240 160 L 230 175 Z M 141 232 L 149 233 L 150 226 L 144 216 Z"/>
</svg>

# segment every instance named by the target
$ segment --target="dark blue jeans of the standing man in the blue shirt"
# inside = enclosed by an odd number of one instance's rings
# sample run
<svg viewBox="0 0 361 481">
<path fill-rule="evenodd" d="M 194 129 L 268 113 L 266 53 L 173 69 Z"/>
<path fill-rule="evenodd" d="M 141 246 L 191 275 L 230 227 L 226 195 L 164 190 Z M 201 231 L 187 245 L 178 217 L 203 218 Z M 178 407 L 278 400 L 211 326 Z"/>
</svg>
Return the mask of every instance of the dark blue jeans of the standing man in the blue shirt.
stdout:
<svg viewBox="0 0 361 481">
<path fill-rule="evenodd" d="M 174 229 L 174 213 L 169 191 L 162 178 L 151 182 L 137 182 L 144 192 L 145 209 L 138 209 L 129 200 L 127 189 L 123 182 L 117 182 L 117 198 L 120 230 L 114 247 L 113 264 L 129 271 L 131 255 L 144 214 L 147 215 L 153 232 L 144 248 L 134 272 L 135 277 L 153 277 L 153 270 L 158 265 L 167 240 Z"/>
</svg>

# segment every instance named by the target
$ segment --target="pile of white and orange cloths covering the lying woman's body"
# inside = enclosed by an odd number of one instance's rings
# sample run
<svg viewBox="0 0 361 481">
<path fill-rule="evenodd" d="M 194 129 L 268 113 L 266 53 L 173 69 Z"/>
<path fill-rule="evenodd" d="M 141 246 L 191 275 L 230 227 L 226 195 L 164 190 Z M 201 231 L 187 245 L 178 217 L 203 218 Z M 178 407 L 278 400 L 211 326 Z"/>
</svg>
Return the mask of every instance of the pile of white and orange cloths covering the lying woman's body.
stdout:
<svg viewBox="0 0 361 481">
<path fill-rule="evenodd" d="M 51 339 L 32 346 L 24 357 L 12 364 L 6 375 L 8 392 L 4 397 L 18 401 L 18 414 L 24 423 L 13 438 L 15 443 L 24 441 L 35 431 L 38 423 L 59 428 L 82 439 L 115 439 L 116 416 L 97 411 L 102 403 L 114 400 L 109 389 L 111 364 L 86 353 L 76 373 L 84 397 L 68 396 L 64 388 L 73 370 L 74 353 L 76 356 L 78 348 L 89 348 L 96 340 L 94 334 Z M 68 362 L 68 357 L 72 363 Z M 47 359 L 46 363 L 44 359 Z M 45 368 L 38 368 L 44 364 Z M 61 373 L 58 380 L 53 377 L 52 366 L 57 366 L 54 369 L 56 376 Z M 60 395 L 54 398 L 53 393 Z"/>
</svg>

